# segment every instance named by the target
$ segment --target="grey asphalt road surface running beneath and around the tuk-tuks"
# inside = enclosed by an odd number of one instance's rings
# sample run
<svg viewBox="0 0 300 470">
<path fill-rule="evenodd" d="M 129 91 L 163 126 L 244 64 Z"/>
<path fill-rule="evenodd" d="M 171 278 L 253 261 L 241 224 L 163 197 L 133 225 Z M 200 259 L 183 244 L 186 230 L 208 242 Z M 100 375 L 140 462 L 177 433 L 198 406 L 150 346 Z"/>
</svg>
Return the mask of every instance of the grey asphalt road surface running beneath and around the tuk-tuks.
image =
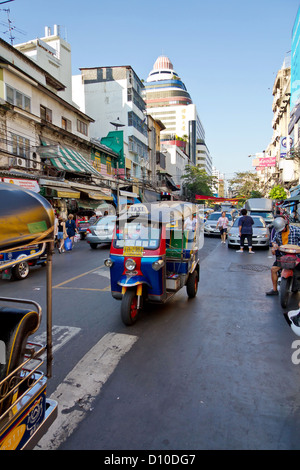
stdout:
<svg viewBox="0 0 300 470">
<path fill-rule="evenodd" d="M 270 253 L 205 238 L 197 297 L 182 289 L 132 327 L 111 297 L 107 255 L 81 241 L 54 257 L 48 395 L 60 413 L 38 448 L 299 449 L 297 337 L 265 296 Z M 0 286 L 44 306 L 43 268 Z"/>
</svg>

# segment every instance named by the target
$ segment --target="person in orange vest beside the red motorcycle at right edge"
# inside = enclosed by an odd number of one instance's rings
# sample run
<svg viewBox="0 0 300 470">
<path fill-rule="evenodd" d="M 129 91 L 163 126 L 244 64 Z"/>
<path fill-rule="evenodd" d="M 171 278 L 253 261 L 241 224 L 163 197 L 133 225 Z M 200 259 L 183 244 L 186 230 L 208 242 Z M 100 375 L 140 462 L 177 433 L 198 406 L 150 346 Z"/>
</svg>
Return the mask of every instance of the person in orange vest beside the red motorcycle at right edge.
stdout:
<svg viewBox="0 0 300 470">
<path fill-rule="evenodd" d="M 271 280 L 273 289 L 266 292 L 266 295 L 278 295 L 277 282 L 278 282 L 278 257 L 280 252 L 278 251 L 281 245 L 298 245 L 300 246 L 300 227 L 295 225 L 289 225 L 289 222 L 284 217 L 276 217 L 273 222 L 274 236 L 272 238 L 272 254 L 276 256 L 276 260 L 271 267 Z"/>
</svg>

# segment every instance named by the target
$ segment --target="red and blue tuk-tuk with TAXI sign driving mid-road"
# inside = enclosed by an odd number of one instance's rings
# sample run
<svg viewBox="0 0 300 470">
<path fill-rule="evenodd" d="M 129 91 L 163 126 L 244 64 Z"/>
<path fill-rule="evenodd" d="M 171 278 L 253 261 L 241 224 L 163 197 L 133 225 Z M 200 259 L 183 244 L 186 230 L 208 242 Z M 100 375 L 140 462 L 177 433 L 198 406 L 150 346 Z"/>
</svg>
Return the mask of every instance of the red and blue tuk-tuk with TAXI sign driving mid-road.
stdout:
<svg viewBox="0 0 300 470">
<path fill-rule="evenodd" d="M 203 220 L 197 205 L 180 201 L 134 204 L 117 219 L 111 243 L 111 293 L 132 325 L 146 301 L 164 303 L 186 286 L 195 297 Z"/>
</svg>

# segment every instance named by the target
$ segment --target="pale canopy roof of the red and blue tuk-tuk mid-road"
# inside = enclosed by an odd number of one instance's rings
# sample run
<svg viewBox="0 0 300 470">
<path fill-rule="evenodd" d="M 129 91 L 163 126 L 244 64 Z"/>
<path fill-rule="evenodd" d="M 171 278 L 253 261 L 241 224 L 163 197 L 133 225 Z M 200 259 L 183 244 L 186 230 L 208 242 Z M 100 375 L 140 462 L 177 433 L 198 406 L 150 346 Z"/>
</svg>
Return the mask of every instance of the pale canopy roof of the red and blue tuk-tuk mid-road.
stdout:
<svg viewBox="0 0 300 470">
<path fill-rule="evenodd" d="M 199 212 L 199 206 L 186 201 L 163 201 L 146 204 L 133 204 L 119 215 L 120 221 L 139 217 L 152 222 L 169 223 L 185 220 Z"/>
</svg>

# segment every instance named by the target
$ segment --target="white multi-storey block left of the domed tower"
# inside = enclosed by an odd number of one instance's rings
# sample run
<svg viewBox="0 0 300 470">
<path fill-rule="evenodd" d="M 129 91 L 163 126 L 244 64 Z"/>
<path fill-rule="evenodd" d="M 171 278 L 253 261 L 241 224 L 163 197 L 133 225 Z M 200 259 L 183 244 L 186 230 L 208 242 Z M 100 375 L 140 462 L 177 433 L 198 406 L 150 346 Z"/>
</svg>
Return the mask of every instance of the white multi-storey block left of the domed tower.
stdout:
<svg viewBox="0 0 300 470">
<path fill-rule="evenodd" d="M 146 105 L 143 83 L 130 66 L 81 68 L 73 76 L 73 99 L 93 116 L 91 137 L 101 139 L 115 129 L 123 131 L 126 175 L 141 178 L 149 172 Z"/>
</svg>

